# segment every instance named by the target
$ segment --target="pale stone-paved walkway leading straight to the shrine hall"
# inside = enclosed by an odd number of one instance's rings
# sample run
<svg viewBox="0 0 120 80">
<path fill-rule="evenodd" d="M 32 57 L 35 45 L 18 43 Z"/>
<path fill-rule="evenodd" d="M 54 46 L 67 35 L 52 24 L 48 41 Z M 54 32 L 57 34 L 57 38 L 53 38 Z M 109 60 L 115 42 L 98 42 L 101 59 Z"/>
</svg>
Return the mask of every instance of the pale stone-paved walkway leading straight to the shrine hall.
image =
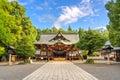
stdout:
<svg viewBox="0 0 120 80">
<path fill-rule="evenodd" d="M 48 62 L 23 80 L 98 80 L 71 62 Z"/>
</svg>

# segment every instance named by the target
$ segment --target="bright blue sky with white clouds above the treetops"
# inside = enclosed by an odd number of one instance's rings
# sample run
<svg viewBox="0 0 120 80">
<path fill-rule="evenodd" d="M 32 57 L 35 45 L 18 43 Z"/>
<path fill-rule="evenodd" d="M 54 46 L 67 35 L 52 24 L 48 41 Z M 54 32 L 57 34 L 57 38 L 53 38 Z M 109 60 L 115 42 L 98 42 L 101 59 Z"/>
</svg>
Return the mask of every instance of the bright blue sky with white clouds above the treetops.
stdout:
<svg viewBox="0 0 120 80">
<path fill-rule="evenodd" d="M 13 1 L 13 0 L 9 0 Z M 104 28 L 109 23 L 105 4 L 109 0 L 18 0 L 26 15 L 40 29 Z"/>
</svg>

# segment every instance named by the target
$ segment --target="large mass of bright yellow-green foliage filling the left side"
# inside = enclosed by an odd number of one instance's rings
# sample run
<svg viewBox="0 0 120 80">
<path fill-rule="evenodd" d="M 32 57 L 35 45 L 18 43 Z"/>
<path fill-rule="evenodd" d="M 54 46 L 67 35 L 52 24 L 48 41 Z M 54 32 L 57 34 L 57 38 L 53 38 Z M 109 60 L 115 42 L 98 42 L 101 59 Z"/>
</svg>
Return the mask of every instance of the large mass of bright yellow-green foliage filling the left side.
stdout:
<svg viewBox="0 0 120 80">
<path fill-rule="evenodd" d="M 16 54 L 23 58 L 34 56 L 33 42 L 37 36 L 37 30 L 25 12 L 17 1 L 0 0 L 0 46 L 14 46 Z"/>
</svg>

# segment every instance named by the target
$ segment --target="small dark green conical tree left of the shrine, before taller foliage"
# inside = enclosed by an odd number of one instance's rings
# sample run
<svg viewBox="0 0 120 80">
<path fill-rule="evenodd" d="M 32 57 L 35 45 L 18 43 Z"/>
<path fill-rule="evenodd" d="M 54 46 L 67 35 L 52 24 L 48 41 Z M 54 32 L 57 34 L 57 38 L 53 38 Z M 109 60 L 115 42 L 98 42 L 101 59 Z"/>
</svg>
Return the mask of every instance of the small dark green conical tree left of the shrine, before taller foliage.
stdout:
<svg viewBox="0 0 120 80">
<path fill-rule="evenodd" d="M 16 48 L 16 54 L 23 58 L 24 62 L 28 57 L 33 57 L 35 53 L 35 48 L 31 45 L 29 41 L 30 37 L 26 36 L 22 39 L 21 44 Z"/>
</svg>

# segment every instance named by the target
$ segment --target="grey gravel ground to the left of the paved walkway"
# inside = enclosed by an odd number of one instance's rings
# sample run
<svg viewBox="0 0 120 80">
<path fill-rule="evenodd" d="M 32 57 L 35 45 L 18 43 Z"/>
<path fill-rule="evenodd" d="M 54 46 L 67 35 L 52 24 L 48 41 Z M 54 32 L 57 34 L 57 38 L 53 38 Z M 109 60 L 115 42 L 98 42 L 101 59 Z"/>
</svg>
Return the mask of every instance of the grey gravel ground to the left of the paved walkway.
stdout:
<svg viewBox="0 0 120 80">
<path fill-rule="evenodd" d="M 0 65 L 0 80 L 22 80 L 42 65 L 44 63 L 13 66 Z"/>
</svg>

